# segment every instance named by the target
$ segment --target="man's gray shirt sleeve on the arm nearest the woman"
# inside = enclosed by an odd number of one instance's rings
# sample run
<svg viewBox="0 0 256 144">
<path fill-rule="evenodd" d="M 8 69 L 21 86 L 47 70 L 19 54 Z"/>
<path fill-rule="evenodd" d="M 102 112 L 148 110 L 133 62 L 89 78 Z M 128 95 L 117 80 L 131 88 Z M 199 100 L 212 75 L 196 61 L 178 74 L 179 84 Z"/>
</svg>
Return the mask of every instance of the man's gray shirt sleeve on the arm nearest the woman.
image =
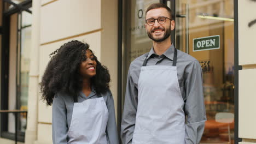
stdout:
<svg viewBox="0 0 256 144">
<path fill-rule="evenodd" d="M 127 77 L 125 104 L 121 122 L 121 141 L 123 144 L 132 143 L 137 112 L 138 89 L 135 87 L 130 70 Z"/>
</svg>

